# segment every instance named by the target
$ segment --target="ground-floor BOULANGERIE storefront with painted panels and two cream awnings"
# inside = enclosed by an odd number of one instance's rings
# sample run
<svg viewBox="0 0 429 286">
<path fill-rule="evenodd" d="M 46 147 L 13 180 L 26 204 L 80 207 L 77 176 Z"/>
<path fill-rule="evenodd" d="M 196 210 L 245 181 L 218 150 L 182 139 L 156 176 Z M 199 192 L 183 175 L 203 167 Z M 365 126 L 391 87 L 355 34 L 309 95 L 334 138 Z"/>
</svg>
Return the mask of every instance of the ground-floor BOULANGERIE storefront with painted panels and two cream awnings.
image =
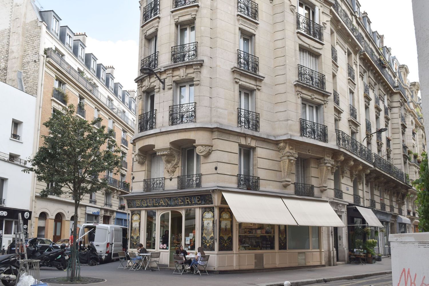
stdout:
<svg viewBox="0 0 429 286">
<path fill-rule="evenodd" d="M 131 193 L 130 249 L 139 243 L 160 252 L 160 265 L 173 266 L 173 253 L 203 247 L 208 270 L 323 265 L 323 226 L 344 227 L 328 202 L 239 189 L 195 189 Z"/>
</svg>

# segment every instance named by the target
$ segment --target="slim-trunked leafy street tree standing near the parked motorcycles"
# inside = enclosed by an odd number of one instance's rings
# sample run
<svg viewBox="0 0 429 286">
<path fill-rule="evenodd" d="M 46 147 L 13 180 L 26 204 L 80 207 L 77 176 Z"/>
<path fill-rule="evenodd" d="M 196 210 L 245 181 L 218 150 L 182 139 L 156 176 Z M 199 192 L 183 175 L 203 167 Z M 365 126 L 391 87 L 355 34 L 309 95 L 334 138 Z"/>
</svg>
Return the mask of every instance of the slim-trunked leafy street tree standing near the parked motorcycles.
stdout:
<svg viewBox="0 0 429 286">
<path fill-rule="evenodd" d="M 111 170 L 118 173 L 121 166 L 121 150 L 118 149 L 113 130 L 105 132 L 106 126 L 95 128 L 101 118 L 88 122 L 75 115 L 75 108 L 69 105 L 62 112 L 54 112 L 51 118 L 43 123 L 49 130 L 49 135 L 43 135 L 43 145 L 36 155 L 29 160 L 31 168 L 24 172 L 34 172 L 36 179 L 48 184 L 39 194 L 69 196 L 75 202 L 73 224 L 74 241 L 78 239 L 77 221 L 78 208 L 82 198 L 101 190 L 109 191 L 106 178 L 99 174 Z M 53 183 L 53 184 L 52 184 Z M 76 270 L 76 243 L 72 246 L 72 271 L 69 271 L 70 281 L 79 280 L 80 272 Z"/>
</svg>

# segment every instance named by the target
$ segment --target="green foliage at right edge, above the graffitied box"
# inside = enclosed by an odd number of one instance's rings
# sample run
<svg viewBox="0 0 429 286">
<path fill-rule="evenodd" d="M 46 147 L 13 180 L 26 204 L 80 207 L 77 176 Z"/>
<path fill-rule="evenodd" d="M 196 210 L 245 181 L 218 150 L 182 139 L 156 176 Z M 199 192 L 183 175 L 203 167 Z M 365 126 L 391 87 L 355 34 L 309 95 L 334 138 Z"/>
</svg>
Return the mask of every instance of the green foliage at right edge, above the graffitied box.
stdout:
<svg viewBox="0 0 429 286">
<path fill-rule="evenodd" d="M 419 229 L 423 232 L 429 232 L 429 169 L 428 155 L 422 153 L 422 163 L 420 163 L 420 178 L 414 181 L 414 186 L 417 188 L 418 213 L 419 213 Z"/>
</svg>

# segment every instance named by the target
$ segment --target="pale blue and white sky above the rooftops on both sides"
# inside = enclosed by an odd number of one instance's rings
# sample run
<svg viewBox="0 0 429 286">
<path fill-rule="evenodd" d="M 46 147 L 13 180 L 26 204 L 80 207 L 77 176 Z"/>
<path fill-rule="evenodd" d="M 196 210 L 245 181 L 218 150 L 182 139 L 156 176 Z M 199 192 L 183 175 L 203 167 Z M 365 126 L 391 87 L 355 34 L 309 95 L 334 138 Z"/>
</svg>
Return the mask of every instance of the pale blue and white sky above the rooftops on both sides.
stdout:
<svg viewBox="0 0 429 286">
<path fill-rule="evenodd" d="M 73 32 L 85 32 L 87 53 L 99 63 L 115 67 L 115 81 L 124 89 L 136 89 L 139 60 L 138 0 L 35 0 L 44 10 L 54 10 Z M 408 79 L 418 81 L 417 46 L 411 0 L 359 0 L 373 31 L 385 36 L 384 45 L 392 48 L 399 63 L 410 71 Z M 79 9 L 77 8 L 79 7 Z"/>
</svg>

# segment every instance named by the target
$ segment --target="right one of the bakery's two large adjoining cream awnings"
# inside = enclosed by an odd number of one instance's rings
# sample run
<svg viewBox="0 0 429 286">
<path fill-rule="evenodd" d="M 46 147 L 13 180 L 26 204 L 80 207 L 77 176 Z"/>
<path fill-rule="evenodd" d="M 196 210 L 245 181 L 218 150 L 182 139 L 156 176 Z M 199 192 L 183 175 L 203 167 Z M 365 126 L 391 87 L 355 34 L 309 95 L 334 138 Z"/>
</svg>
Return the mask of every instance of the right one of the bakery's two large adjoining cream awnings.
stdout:
<svg viewBox="0 0 429 286">
<path fill-rule="evenodd" d="M 344 223 L 325 201 L 281 198 L 299 226 L 338 226 Z"/>
</svg>

